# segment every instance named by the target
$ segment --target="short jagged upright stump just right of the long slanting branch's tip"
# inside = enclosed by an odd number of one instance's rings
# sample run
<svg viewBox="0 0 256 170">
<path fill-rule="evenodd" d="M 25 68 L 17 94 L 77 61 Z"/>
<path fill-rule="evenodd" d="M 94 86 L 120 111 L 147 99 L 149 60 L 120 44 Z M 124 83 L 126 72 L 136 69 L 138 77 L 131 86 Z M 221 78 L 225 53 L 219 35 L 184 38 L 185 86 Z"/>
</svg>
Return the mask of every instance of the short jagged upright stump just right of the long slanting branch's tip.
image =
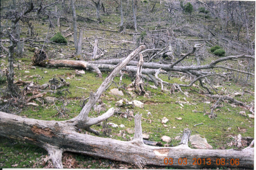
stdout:
<svg viewBox="0 0 256 170">
<path fill-rule="evenodd" d="M 138 65 L 137 65 L 136 78 L 131 84 L 128 85 L 128 87 L 134 87 L 135 92 L 140 96 L 146 93 L 146 91 L 144 90 L 144 82 L 142 80 L 142 73 L 141 73 L 142 66 L 143 66 L 143 55 L 140 54 L 140 61 L 138 62 Z"/>
</svg>

